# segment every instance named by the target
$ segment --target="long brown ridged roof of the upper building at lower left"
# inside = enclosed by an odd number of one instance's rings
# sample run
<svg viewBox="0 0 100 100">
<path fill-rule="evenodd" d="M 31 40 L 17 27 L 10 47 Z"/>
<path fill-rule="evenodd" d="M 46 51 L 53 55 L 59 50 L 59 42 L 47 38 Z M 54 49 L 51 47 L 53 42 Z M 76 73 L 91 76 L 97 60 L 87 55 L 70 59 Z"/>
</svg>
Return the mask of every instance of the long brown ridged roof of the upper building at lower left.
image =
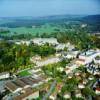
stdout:
<svg viewBox="0 0 100 100">
<path fill-rule="evenodd" d="M 16 79 L 15 81 L 9 81 L 5 84 L 5 87 L 13 92 L 16 91 L 18 88 L 24 88 L 25 86 L 29 85 L 32 86 L 34 84 L 38 84 L 40 81 L 42 81 L 43 79 L 46 79 L 46 77 L 41 77 L 39 79 L 35 79 L 32 77 L 24 77 L 24 78 L 20 78 L 20 79 Z"/>
</svg>

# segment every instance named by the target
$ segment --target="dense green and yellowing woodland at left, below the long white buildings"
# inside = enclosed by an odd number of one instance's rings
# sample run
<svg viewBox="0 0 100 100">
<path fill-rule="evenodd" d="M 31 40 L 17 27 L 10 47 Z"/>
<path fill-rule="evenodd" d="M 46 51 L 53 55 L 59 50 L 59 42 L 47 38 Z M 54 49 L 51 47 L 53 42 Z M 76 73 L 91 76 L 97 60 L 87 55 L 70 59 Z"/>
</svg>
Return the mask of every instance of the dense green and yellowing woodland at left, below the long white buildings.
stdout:
<svg viewBox="0 0 100 100">
<path fill-rule="evenodd" d="M 42 57 L 55 53 L 55 49 L 48 44 L 37 46 L 30 44 L 16 45 L 5 41 L 0 42 L 0 72 L 16 71 L 20 68 L 27 68 L 30 63 L 30 57 L 40 55 Z"/>
</svg>

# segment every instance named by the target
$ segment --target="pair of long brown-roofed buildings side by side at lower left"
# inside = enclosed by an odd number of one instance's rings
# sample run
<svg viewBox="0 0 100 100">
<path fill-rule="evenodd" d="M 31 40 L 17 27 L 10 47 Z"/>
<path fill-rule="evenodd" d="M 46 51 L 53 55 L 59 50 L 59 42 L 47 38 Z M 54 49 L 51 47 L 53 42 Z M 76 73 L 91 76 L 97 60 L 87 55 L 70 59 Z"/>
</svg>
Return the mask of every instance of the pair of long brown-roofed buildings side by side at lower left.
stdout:
<svg viewBox="0 0 100 100">
<path fill-rule="evenodd" d="M 5 89 L 9 90 L 11 94 L 6 95 L 3 100 L 10 98 L 9 100 L 31 100 L 39 97 L 39 92 L 42 86 L 42 90 L 46 90 L 48 85 L 48 78 L 46 75 L 40 77 L 28 76 L 17 78 L 12 81 L 8 81 L 5 84 Z M 45 87 L 46 86 L 46 87 Z"/>
</svg>

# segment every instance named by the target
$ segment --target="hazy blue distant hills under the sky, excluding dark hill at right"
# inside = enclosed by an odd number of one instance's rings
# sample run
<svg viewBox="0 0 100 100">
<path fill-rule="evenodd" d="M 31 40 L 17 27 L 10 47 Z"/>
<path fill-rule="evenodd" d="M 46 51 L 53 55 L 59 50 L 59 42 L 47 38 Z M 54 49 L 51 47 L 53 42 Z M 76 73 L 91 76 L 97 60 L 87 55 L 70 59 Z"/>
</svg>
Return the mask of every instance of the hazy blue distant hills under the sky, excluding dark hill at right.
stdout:
<svg viewBox="0 0 100 100">
<path fill-rule="evenodd" d="M 2 22 L 0 22 L 1 27 L 30 27 L 32 25 L 43 25 L 45 23 L 57 23 L 61 24 L 66 21 L 76 21 L 83 16 L 79 15 L 56 15 L 56 16 L 46 16 L 46 17 L 3 17 Z M 7 22 L 5 21 L 7 20 Z M 4 21 L 4 22 L 3 22 Z"/>
</svg>

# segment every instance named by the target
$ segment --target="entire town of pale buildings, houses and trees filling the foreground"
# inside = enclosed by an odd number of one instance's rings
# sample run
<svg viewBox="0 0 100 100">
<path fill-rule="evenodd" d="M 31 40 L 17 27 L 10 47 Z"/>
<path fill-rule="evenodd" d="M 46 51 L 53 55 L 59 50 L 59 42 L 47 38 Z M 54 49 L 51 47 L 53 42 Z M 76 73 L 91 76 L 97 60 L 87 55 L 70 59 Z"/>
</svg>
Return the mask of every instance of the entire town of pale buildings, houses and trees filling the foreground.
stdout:
<svg viewBox="0 0 100 100">
<path fill-rule="evenodd" d="M 34 67 L 13 75 L 0 73 L 0 93 L 6 93 L 3 100 L 100 100 L 100 49 L 81 51 L 70 42 L 59 43 L 56 38 L 9 42 L 49 44 L 56 54 L 44 58 L 35 55 L 30 58 Z M 63 61 L 68 62 L 56 67 Z"/>
</svg>

